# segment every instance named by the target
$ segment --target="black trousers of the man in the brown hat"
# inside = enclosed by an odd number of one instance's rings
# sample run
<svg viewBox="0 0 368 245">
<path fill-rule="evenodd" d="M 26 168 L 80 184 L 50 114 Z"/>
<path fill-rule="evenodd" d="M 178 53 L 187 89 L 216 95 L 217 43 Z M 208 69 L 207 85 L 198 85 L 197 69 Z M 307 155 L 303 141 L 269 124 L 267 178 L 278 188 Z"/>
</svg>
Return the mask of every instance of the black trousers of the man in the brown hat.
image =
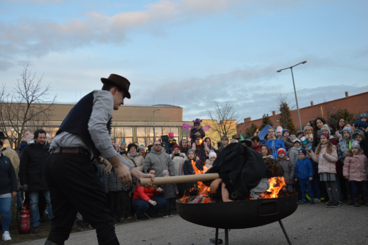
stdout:
<svg viewBox="0 0 368 245">
<path fill-rule="evenodd" d="M 49 241 L 64 245 L 79 212 L 96 229 L 99 244 L 119 244 L 97 167 L 89 156 L 51 154 L 46 162 L 45 174 L 54 216 Z"/>
</svg>

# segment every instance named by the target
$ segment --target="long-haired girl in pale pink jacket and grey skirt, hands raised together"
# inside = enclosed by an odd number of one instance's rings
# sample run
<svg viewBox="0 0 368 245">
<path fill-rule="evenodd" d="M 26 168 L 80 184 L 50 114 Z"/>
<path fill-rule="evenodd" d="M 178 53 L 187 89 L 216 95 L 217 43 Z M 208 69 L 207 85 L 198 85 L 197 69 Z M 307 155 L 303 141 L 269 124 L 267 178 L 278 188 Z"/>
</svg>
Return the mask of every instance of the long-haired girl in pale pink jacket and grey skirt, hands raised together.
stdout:
<svg viewBox="0 0 368 245">
<path fill-rule="evenodd" d="M 308 153 L 312 156 L 312 159 L 318 163 L 319 180 L 324 181 L 328 194 L 328 202 L 326 207 L 339 207 L 338 190 L 335 185 L 337 179 L 336 165 L 338 161 L 338 154 L 336 147 L 331 144 L 330 135 L 327 133 L 321 133 L 320 142 L 315 149 L 315 153 L 308 149 Z M 334 196 L 332 196 L 332 193 Z"/>
</svg>

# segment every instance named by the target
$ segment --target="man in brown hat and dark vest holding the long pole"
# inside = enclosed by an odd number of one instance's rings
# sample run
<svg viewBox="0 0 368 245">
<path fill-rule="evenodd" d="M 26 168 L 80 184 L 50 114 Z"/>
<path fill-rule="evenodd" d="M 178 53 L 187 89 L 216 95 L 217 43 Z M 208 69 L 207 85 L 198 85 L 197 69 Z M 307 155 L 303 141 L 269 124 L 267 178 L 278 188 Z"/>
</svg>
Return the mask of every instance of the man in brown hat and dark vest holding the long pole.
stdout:
<svg viewBox="0 0 368 245">
<path fill-rule="evenodd" d="M 132 182 L 131 175 L 154 178 L 133 168 L 110 143 L 111 116 L 124 98 L 131 98 L 130 82 L 116 74 L 101 81 L 102 90 L 79 100 L 51 144 L 45 172 L 54 218 L 45 245 L 63 245 L 68 240 L 77 212 L 96 229 L 100 245 L 120 244 L 94 159 L 104 156 L 123 184 Z"/>
</svg>

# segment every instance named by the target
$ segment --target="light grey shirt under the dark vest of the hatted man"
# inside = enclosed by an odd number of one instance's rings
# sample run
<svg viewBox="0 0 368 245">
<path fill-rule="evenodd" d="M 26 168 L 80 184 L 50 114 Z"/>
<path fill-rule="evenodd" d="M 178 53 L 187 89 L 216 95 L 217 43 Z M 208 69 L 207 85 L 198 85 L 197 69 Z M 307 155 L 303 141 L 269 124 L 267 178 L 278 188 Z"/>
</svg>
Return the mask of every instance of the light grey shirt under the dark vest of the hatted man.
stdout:
<svg viewBox="0 0 368 245">
<path fill-rule="evenodd" d="M 133 168 L 123 156 L 118 154 L 111 144 L 111 138 L 106 128 L 107 122 L 110 120 L 114 108 L 114 100 L 109 91 L 95 90 L 93 91 L 93 106 L 91 117 L 88 121 L 88 131 L 96 148 L 105 158 L 110 158 L 117 155 L 120 161 L 129 169 Z M 53 138 L 50 150 L 57 147 L 83 147 L 86 148 L 91 156 L 93 152 L 85 144 L 85 142 L 77 134 L 61 132 Z"/>
</svg>

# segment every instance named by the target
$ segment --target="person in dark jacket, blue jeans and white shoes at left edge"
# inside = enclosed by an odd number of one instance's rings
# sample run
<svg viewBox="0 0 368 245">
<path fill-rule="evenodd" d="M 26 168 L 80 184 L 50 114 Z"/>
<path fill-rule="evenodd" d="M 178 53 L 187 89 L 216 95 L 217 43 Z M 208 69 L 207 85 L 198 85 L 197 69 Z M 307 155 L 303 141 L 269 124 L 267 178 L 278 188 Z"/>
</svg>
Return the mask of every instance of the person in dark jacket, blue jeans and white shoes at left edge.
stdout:
<svg viewBox="0 0 368 245">
<path fill-rule="evenodd" d="M 0 141 L 1 142 L 1 141 Z M 9 226 L 11 221 L 11 198 L 17 195 L 17 176 L 10 159 L 1 153 L 0 143 L 0 215 L 2 240 L 11 240 Z"/>
</svg>

